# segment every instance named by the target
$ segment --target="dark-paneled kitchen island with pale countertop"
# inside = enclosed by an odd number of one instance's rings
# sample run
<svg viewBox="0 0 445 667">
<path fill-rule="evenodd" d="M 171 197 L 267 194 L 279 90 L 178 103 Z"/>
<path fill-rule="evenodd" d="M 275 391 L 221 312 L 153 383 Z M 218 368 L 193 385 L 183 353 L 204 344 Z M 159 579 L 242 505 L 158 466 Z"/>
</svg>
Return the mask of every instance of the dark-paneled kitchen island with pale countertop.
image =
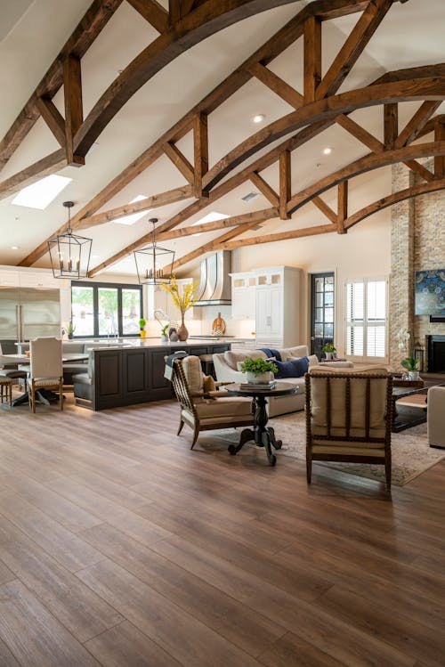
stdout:
<svg viewBox="0 0 445 667">
<path fill-rule="evenodd" d="M 161 343 L 158 339 L 135 339 L 134 343 L 90 350 L 88 372 L 73 376 L 78 405 L 106 410 L 173 398 L 172 386 L 164 378 L 166 356 L 180 350 L 200 356 L 230 349 L 230 343 L 221 341 Z"/>
</svg>

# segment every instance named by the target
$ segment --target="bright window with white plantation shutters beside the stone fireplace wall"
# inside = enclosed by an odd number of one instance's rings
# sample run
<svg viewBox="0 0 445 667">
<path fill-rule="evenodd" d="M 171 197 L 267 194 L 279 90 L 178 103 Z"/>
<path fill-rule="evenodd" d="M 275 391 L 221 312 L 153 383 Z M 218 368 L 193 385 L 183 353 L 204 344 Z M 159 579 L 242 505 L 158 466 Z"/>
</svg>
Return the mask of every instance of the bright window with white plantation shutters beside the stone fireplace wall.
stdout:
<svg viewBox="0 0 445 667">
<path fill-rule="evenodd" d="M 365 361 L 386 358 L 387 281 L 360 278 L 346 283 L 346 354 Z"/>
</svg>

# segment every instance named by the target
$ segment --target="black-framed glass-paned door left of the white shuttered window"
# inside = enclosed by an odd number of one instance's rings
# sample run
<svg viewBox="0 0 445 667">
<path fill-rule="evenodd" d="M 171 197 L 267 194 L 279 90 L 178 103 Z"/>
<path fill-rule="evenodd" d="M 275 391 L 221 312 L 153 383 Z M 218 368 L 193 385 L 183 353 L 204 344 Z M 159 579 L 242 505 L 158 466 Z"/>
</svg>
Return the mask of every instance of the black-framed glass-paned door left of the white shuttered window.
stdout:
<svg viewBox="0 0 445 667">
<path fill-rule="evenodd" d="M 312 273 L 311 354 L 323 356 L 321 348 L 334 342 L 334 273 Z"/>
</svg>

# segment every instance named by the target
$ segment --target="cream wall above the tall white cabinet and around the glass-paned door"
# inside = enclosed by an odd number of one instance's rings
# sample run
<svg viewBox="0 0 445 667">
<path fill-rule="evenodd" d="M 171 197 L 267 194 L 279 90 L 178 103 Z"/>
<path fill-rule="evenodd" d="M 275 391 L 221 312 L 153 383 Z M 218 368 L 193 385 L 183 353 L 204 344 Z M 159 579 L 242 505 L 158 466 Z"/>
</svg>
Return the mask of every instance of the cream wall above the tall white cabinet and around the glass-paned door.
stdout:
<svg viewBox="0 0 445 667">
<path fill-rule="evenodd" d="M 234 250 L 233 271 L 250 271 L 266 266 L 286 265 L 303 269 L 300 295 L 300 342 L 309 344 L 310 274 L 336 274 L 335 342 L 344 354 L 344 282 L 361 276 L 386 276 L 391 272 L 391 212 L 384 209 L 353 227 L 347 234 L 321 234 L 263 243 Z"/>
</svg>

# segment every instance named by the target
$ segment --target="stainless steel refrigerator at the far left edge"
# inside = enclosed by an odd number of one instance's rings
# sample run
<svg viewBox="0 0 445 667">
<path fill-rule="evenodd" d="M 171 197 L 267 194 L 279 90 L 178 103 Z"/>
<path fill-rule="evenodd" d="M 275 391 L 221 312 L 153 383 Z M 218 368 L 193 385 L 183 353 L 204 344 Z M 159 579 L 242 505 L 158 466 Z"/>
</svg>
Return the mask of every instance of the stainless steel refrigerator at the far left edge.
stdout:
<svg viewBox="0 0 445 667">
<path fill-rule="evenodd" d="M 61 336 L 59 289 L 0 287 L 0 341 Z"/>
</svg>

